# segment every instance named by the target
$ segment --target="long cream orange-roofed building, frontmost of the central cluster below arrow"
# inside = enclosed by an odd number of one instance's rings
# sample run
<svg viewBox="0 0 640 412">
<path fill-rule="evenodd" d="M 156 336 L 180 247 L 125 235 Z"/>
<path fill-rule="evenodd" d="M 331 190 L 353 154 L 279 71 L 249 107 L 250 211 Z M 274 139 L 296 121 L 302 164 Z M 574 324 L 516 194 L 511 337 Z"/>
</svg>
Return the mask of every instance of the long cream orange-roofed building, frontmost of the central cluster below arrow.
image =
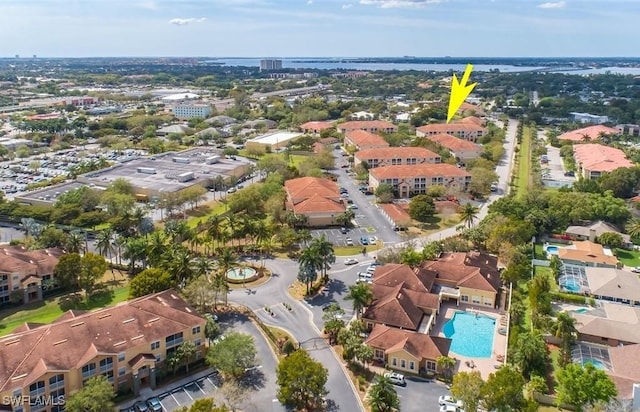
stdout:
<svg viewBox="0 0 640 412">
<path fill-rule="evenodd" d="M 369 186 L 372 191 L 375 191 L 380 184 L 388 183 L 401 198 L 426 193 L 427 188 L 433 185 L 464 191 L 470 182 L 471 174 L 447 163 L 422 163 L 369 169 Z"/>
</svg>

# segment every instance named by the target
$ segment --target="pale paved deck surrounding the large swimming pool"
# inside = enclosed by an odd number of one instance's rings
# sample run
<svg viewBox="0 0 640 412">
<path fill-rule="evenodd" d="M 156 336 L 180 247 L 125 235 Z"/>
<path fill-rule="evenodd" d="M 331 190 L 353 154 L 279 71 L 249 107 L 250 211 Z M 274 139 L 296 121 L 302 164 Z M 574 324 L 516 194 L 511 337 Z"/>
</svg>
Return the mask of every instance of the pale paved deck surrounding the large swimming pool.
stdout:
<svg viewBox="0 0 640 412">
<path fill-rule="evenodd" d="M 503 316 L 500 311 L 474 305 L 467 305 L 460 303 L 456 306 L 455 303 L 443 302 L 440 307 L 440 314 L 436 325 L 431 333 L 433 336 L 445 337 L 442 329 L 444 325 L 453 318 L 456 312 L 472 312 L 480 313 L 496 319 L 496 327 L 493 331 L 493 350 L 490 358 L 470 358 L 462 356 L 457 353 L 449 352 L 449 357 L 456 359 L 456 372 L 473 372 L 478 371 L 484 379 L 489 377 L 489 374 L 496 371 L 495 366 L 502 365 L 502 361 L 498 361 L 498 356 L 504 356 L 507 348 L 507 337 L 498 333 L 498 329 L 502 326 L 500 324 L 500 318 Z M 473 361 L 473 364 L 468 365 L 467 362 Z"/>
</svg>

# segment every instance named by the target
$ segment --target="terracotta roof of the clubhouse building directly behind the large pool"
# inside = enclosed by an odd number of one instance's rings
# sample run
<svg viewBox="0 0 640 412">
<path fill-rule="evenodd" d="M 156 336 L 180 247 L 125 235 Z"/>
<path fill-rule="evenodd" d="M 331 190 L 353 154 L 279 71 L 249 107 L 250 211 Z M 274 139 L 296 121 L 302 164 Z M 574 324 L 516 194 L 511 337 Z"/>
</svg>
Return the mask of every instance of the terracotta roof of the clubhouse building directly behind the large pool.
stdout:
<svg viewBox="0 0 640 412">
<path fill-rule="evenodd" d="M 498 259 L 482 252 L 443 253 L 438 260 L 427 261 L 421 266 L 437 273 L 437 279 L 489 292 L 498 292 L 502 280 L 498 271 Z"/>
</svg>

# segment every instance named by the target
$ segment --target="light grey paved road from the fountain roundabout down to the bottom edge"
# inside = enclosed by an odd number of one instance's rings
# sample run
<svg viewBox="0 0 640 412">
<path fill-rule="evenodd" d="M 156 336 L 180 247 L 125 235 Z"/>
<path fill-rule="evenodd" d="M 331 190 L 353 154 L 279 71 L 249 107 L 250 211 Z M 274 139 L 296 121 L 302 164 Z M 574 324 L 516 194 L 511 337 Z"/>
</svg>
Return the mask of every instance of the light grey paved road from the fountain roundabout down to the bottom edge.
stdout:
<svg viewBox="0 0 640 412">
<path fill-rule="evenodd" d="M 334 403 L 341 411 L 363 410 L 355 388 L 345 374 L 335 352 L 321 337 L 314 323 L 310 322 L 311 312 L 304 304 L 293 300 L 286 291 L 287 285 L 291 285 L 296 279 L 298 273 L 296 262 L 270 260 L 266 262 L 266 266 L 275 274 L 271 281 L 251 291 L 235 289 L 229 294 L 229 301 L 251 308 L 266 324 L 288 330 L 311 356 L 328 369 L 327 400 L 330 403 Z M 282 302 L 289 303 L 293 310 L 288 311 Z M 272 309 L 275 316 L 272 317 L 264 310 L 267 306 Z"/>
</svg>

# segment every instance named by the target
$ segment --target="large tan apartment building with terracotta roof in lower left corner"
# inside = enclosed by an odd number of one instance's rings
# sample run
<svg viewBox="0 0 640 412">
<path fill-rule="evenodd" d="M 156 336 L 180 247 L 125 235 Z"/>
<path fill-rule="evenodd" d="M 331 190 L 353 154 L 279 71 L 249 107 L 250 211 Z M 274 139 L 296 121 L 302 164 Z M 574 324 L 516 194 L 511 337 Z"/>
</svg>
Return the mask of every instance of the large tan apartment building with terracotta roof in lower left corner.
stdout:
<svg viewBox="0 0 640 412">
<path fill-rule="evenodd" d="M 138 395 L 143 387 L 155 388 L 159 369 L 183 342 L 195 345 L 194 360 L 205 355 L 205 324 L 175 290 L 91 312 L 68 311 L 47 325 L 24 324 L 0 338 L 0 399 L 64 397 L 98 375 L 115 391 Z"/>
</svg>

